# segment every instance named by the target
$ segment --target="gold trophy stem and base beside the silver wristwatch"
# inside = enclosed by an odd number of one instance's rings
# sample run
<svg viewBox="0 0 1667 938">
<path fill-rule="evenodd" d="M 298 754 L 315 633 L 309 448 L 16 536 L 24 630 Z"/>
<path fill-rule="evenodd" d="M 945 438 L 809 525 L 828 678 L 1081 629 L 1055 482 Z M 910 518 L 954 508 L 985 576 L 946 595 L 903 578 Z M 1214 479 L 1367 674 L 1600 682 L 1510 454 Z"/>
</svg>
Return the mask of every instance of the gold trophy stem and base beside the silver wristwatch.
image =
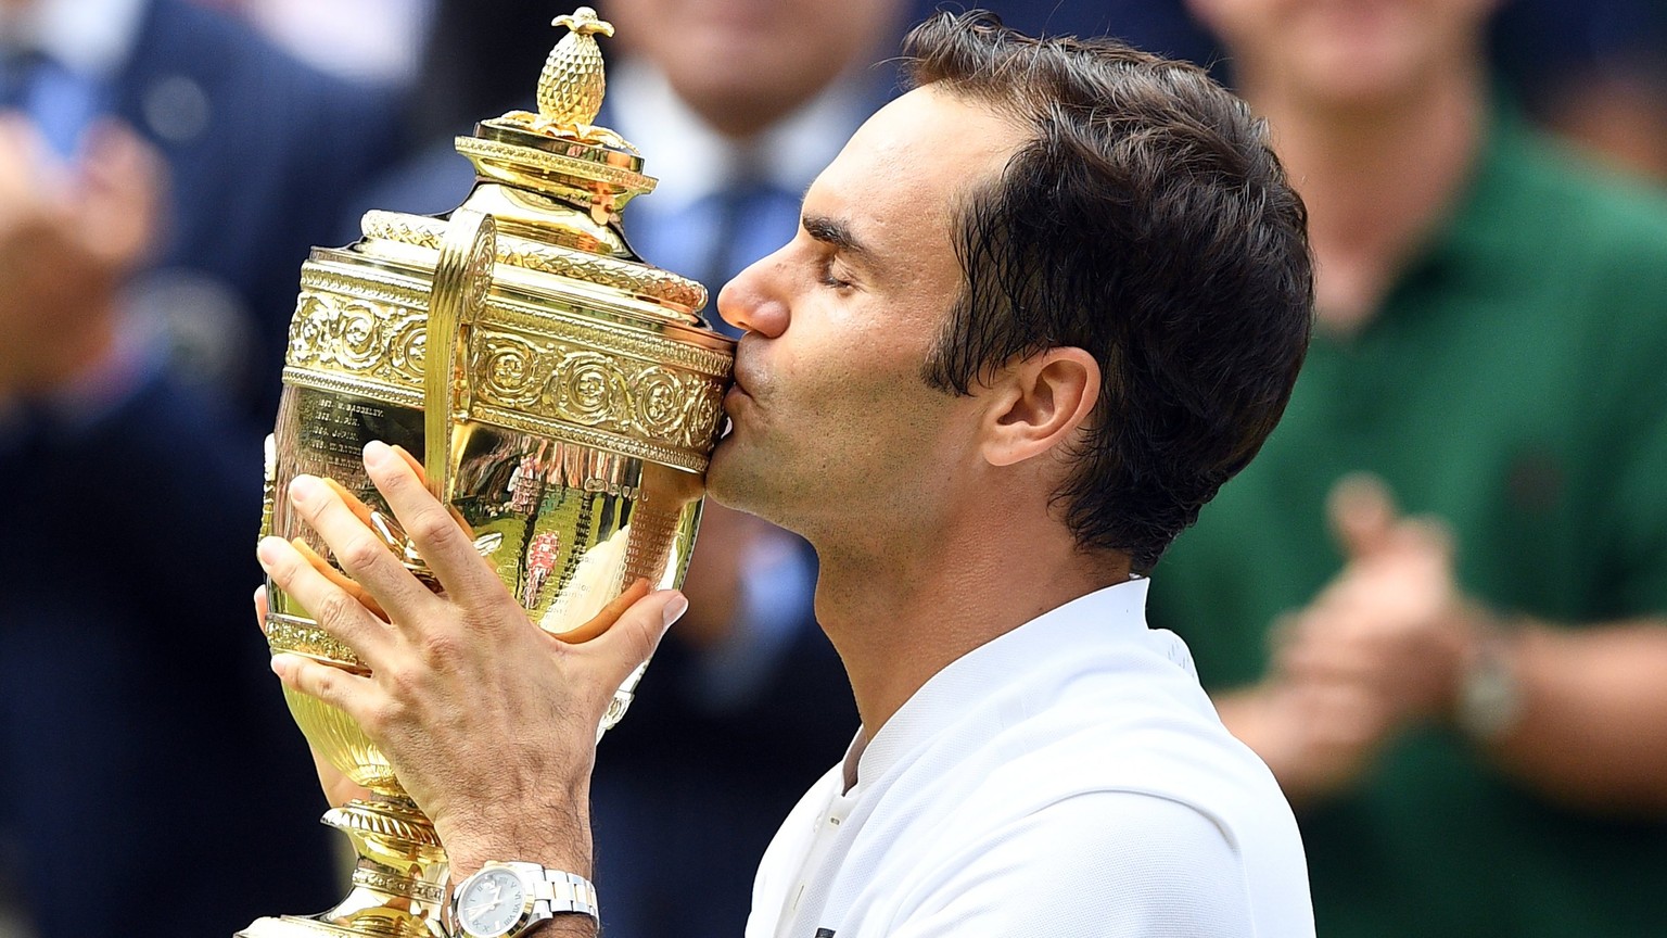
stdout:
<svg viewBox="0 0 1667 938">
<path fill-rule="evenodd" d="M 407 798 L 348 801 L 323 823 L 353 841 L 353 890 L 315 916 L 260 918 L 237 938 L 450 938 L 445 851 L 433 825 Z"/>
</svg>

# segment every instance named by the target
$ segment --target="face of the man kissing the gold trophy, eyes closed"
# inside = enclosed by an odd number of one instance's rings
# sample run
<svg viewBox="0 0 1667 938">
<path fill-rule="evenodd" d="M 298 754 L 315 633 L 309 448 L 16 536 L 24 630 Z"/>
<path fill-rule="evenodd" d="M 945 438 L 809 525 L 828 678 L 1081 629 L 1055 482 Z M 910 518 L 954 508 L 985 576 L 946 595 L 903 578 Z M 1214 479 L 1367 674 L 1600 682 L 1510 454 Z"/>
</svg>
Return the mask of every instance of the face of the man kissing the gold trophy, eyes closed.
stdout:
<svg viewBox="0 0 1667 938">
<path fill-rule="evenodd" d="M 875 113 L 817 177 L 793 240 L 718 297 L 747 334 L 713 497 L 812 542 L 930 526 L 977 466 L 979 397 L 922 379 L 962 289 L 957 207 L 1020 139 L 929 85 Z"/>
</svg>

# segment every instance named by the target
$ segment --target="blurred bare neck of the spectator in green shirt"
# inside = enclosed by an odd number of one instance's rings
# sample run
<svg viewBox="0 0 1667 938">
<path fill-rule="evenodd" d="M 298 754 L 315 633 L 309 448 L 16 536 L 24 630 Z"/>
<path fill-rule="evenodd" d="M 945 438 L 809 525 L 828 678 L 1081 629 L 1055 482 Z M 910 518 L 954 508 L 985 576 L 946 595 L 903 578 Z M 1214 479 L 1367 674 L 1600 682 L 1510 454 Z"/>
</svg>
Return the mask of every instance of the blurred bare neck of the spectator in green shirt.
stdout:
<svg viewBox="0 0 1667 938">
<path fill-rule="evenodd" d="M 1372 103 L 1315 102 L 1279 82 L 1242 82 L 1309 207 L 1322 329 L 1354 332 L 1452 207 L 1482 147 L 1480 60 Z"/>
</svg>

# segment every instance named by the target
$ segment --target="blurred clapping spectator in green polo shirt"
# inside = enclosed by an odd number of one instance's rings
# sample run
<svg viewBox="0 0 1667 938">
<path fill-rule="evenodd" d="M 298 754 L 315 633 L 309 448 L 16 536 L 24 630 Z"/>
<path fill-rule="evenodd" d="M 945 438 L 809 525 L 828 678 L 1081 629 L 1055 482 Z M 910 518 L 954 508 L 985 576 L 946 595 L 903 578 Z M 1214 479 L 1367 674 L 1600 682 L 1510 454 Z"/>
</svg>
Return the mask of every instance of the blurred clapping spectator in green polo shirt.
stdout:
<svg viewBox="0 0 1667 938">
<path fill-rule="evenodd" d="M 1489 0 L 1192 7 L 1307 200 L 1319 330 L 1154 623 L 1299 804 L 1320 935 L 1657 933 L 1667 200 L 1490 100 Z"/>
</svg>

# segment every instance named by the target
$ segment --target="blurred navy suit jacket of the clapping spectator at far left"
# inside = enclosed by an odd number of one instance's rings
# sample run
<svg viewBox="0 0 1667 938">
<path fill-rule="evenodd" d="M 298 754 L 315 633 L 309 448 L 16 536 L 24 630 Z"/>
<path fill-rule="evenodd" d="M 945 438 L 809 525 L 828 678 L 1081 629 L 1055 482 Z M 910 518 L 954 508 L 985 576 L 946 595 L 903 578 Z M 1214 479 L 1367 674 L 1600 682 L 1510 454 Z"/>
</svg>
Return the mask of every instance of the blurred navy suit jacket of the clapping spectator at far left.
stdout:
<svg viewBox="0 0 1667 938">
<path fill-rule="evenodd" d="M 345 893 L 248 596 L 298 264 L 388 108 L 182 0 L 107 97 L 172 175 L 157 269 L 217 284 L 252 340 L 232 381 L 158 372 L 0 441 L 0 828 L 42 938 L 230 935 Z"/>
</svg>

